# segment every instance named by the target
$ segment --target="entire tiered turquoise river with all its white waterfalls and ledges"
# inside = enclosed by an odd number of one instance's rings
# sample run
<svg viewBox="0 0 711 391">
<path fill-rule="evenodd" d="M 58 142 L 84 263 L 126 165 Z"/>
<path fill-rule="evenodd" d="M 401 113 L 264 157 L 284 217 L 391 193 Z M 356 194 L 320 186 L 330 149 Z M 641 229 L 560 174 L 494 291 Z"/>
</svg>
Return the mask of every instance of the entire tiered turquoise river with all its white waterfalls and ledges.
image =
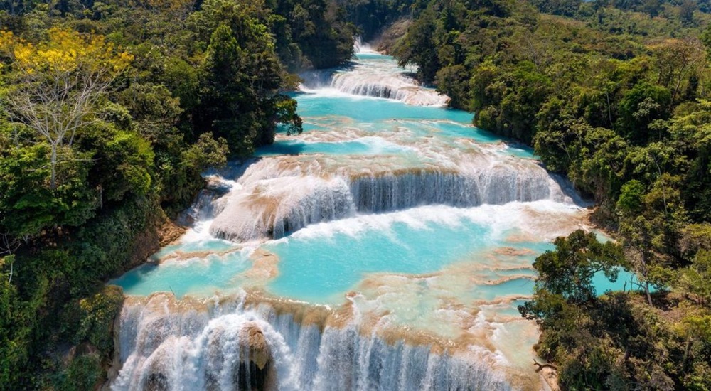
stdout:
<svg viewBox="0 0 711 391">
<path fill-rule="evenodd" d="M 304 133 L 209 173 L 186 235 L 110 282 L 112 390 L 548 389 L 516 307 L 587 204 L 413 72 L 361 47 L 305 74 Z"/>
</svg>

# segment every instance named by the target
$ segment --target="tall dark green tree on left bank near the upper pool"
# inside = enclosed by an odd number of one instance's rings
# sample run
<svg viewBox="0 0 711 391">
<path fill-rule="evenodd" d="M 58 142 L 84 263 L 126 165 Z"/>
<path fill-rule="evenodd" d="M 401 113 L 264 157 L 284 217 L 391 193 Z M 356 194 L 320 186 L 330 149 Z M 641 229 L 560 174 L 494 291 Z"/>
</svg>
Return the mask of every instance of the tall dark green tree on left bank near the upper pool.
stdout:
<svg viewBox="0 0 711 391">
<path fill-rule="evenodd" d="M 273 141 L 277 105 L 288 98 L 279 95 L 282 69 L 266 26 L 247 15 L 237 20 L 243 25 L 238 36 L 220 25 L 210 38 L 203 65 L 206 93 L 195 114 L 196 126 L 213 129 L 232 154 L 247 156 Z"/>
</svg>

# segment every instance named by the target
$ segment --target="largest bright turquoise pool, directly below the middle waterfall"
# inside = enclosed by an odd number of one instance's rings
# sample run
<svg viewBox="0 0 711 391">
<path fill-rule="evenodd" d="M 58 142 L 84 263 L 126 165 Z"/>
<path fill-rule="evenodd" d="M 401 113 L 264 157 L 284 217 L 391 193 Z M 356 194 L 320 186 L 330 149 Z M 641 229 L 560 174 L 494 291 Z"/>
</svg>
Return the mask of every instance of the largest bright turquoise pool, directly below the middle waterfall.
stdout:
<svg viewBox="0 0 711 391">
<path fill-rule="evenodd" d="M 387 230 L 373 227 L 355 235 L 338 230 L 316 237 L 294 235 L 266 246 L 282 259 L 281 274 L 267 289 L 303 301 L 340 301 L 365 274 L 436 272 L 490 245 L 491 228 L 471 222 L 419 227 L 396 222 Z"/>
</svg>

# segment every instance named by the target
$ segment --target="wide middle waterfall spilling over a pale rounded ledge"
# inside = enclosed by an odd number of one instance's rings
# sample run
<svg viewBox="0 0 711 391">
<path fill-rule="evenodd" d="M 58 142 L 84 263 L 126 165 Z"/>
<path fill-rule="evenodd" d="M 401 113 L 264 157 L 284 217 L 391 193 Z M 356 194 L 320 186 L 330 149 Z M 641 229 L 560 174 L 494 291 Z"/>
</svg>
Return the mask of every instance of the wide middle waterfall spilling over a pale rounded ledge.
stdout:
<svg viewBox="0 0 711 391">
<path fill-rule="evenodd" d="M 456 168 L 359 168 L 331 173 L 318 160 L 274 157 L 249 166 L 216 203 L 215 237 L 232 241 L 279 238 L 307 225 L 419 205 L 472 207 L 513 201 L 570 202 L 560 184 L 532 161 L 460 161 Z"/>
</svg>

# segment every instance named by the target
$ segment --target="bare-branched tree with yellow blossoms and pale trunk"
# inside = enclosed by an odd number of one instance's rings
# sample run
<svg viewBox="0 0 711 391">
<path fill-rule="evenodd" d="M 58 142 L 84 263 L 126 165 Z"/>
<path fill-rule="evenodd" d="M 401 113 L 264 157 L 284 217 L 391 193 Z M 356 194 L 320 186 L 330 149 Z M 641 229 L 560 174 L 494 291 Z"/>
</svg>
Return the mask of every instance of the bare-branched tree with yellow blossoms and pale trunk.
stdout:
<svg viewBox="0 0 711 391">
<path fill-rule="evenodd" d="M 29 43 L 0 31 L 0 70 L 8 77 L 4 95 L 13 122 L 33 129 L 50 146 L 50 188 L 55 188 L 58 151 L 71 148 L 77 129 L 97 118 L 97 103 L 132 61 L 103 36 L 52 28 L 48 39 Z"/>
</svg>

